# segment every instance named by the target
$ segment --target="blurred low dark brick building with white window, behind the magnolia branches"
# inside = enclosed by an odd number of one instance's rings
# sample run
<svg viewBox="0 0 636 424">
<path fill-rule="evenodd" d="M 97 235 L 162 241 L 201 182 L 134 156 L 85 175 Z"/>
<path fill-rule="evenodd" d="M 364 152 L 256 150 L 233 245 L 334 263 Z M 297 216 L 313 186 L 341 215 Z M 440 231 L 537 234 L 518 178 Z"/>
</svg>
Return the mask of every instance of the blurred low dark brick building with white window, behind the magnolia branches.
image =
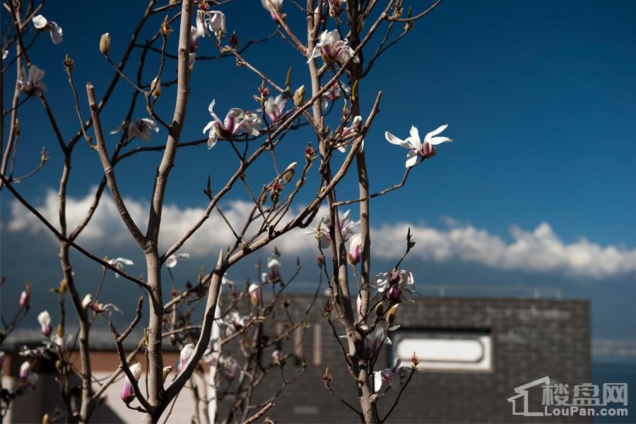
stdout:
<svg viewBox="0 0 636 424">
<path fill-rule="evenodd" d="M 454 288 L 457 292 L 457 287 Z M 541 384 L 529 383 L 549 377 L 574 387 L 592 381 L 590 362 L 590 316 L 587 300 L 559 299 L 558 292 L 546 290 L 521 293 L 521 297 L 450 296 L 437 288 L 435 295 L 402 305 L 392 331 L 391 346 L 378 358 L 376 370 L 393 365 L 397 358 L 410 365 L 415 351 L 418 372 L 402 394 L 391 414 L 393 423 L 485 423 L 485 422 L 590 422 L 589 418 L 527 417 L 515 411 L 543 411 Z M 460 290 L 461 291 L 461 290 Z M 511 293 L 512 294 L 512 293 Z M 289 295 L 290 314 L 301 319 L 311 295 Z M 343 354 L 331 326 L 322 316 L 319 298 L 307 320 L 305 331 L 296 331 L 279 348 L 292 353 L 285 372 L 305 372 L 282 391 L 276 405 L 266 413 L 281 423 L 341 423 L 357 420 L 355 414 L 324 389 L 321 377 L 326 367 L 334 375 L 331 388 L 355 405 L 355 384 L 343 366 Z M 337 328 L 337 326 L 336 326 Z M 16 332 L 3 346 L 3 387 L 10 387 L 18 375 L 22 358 L 20 346 L 37 346 L 41 336 L 35 332 Z M 131 342 L 133 343 L 133 342 Z M 103 379 L 117 369 L 119 360 L 112 337 L 100 331 L 91 334 L 91 362 L 95 378 Z M 132 348 L 134 346 L 128 346 Z M 178 352 L 168 350 L 165 364 L 177 362 Z M 143 357 L 139 360 L 144 363 Z M 264 358 L 270 361 L 269 357 Z M 41 422 L 44 413 L 61 408 L 54 381 L 54 365 L 37 370 L 41 377 L 34 391 L 20 396 L 8 423 Z M 290 371 L 288 371 L 290 369 Z M 272 372 L 254 394 L 254 401 L 269 398 L 281 389 L 281 377 Z M 522 390 L 517 390 L 519 387 Z M 525 391 L 524 391 L 525 387 Z M 136 423 L 119 399 L 122 382 L 105 392 L 105 404 L 95 412 L 95 423 Z M 189 423 L 194 416 L 192 396 L 184 392 L 177 400 L 169 422 Z M 393 387 L 379 403 L 379 416 L 386 415 L 399 392 Z M 516 396 L 516 397 L 515 397 Z M 223 401 L 220 403 L 223 416 Z"/>
</svg>

